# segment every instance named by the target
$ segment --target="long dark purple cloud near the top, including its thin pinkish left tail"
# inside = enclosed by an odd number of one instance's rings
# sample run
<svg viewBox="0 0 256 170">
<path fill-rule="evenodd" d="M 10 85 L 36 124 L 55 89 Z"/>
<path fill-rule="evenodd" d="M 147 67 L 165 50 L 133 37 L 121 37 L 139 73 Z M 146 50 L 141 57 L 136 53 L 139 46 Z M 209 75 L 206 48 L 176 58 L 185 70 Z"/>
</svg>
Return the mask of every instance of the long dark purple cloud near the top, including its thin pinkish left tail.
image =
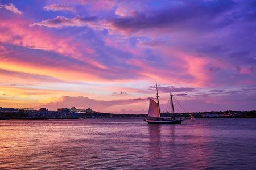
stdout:
<svg viewBox="0 0 256 170">
<path fill-rule="evenodd" d="M 90 16 L 81 18 L 65 18 L 57 16 L 55 19 L 44 20 L 32 25 L 47 27 L 63 26 L 89 26 L 89 22 L 103 21 L 112 24 L 122 31 L 134 33 L 143 29 L 164 28 L 169 30 L 179 29 L 213 29 L 224 27 L 226 23 L 213 22 L 223 12 L 230 11 L 234 6 L 233 1 L 183 1 L 182 5 L 173 6 L 166 2 L 164 8 L 146 8 L 144 11 L 135 11 L 133 16 L 98 18 Z M 207 20 L 208 24 L 205 24 Z M 211 24 L 210 21 L 212 21 Z M 88 25 L 89 24 L 89 25 Z M 193 28 L 195 27 L 195 28 Z M 110 28 L 111 29 L 111 28 Z"/>
</svg>

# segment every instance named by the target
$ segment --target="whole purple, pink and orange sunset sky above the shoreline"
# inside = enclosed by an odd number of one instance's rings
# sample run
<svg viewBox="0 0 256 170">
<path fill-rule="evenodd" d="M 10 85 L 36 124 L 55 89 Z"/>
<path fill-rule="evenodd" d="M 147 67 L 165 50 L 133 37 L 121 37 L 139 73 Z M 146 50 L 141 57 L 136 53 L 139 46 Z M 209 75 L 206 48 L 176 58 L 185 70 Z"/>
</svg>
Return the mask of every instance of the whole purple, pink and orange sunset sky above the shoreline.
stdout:
<svg viewBox="0 0 256 170">
<path fill-rule="evenodd" d="M 0 1 L 0 107 L 256 109 L 256 1 Z M 176 110 L 176 112 L 183 112 Z"/>
</svg>

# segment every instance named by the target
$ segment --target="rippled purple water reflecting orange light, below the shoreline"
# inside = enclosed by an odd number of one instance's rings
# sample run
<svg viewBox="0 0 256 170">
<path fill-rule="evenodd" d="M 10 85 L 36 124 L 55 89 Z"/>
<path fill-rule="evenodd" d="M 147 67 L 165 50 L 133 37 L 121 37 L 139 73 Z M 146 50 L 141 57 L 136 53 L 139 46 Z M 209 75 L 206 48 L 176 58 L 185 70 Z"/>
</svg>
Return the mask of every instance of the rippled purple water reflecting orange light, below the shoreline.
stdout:
<svg viewBox="0 0 256 170">
<path fill-rule="evenodd" d="M 0 120 L 0 169 L 255 169 L 256 119 Z"/>
</svg>

